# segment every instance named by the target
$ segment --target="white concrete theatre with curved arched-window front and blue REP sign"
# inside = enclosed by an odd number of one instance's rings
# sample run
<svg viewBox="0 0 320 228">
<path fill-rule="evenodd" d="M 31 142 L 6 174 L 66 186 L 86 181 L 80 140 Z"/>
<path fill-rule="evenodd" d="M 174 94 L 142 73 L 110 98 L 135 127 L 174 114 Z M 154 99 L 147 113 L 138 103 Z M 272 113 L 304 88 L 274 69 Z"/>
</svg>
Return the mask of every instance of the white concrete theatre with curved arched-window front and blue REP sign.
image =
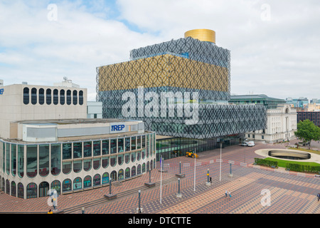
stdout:
<svg viewBox="0 0 320 228">
<path fill-rule="evenodd" d="M 87 119 L 85 88 L 1 87 L 0 189 L 21 198 L 68 194 L 146 173 L 154 132 L 142 120 Z"/>
</svg>

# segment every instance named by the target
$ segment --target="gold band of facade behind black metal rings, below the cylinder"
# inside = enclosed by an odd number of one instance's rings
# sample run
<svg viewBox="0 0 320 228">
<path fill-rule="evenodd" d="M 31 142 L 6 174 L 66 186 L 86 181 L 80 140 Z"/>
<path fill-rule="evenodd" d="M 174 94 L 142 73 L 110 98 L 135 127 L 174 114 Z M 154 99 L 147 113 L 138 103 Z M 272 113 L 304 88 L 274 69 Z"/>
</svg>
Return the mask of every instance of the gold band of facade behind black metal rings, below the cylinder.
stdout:
<svg viewBox="0 0 320 228">
<path fill-rule="evenodd" d="M 176 87 L 228 92 L 228 68 L 169 54 L 97 68 L 99 90 Z"/>
</svg>

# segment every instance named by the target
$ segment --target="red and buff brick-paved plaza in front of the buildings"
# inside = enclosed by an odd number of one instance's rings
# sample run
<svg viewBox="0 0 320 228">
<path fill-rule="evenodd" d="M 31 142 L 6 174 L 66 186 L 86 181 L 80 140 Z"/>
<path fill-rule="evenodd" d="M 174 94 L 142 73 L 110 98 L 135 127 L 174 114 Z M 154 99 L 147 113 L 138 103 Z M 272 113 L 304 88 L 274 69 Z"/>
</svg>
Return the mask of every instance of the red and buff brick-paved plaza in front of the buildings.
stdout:
<svg viewBox="0 0 320 228">
<path fill-rule="evenodd" d="M 109 193 L 108 186 L 59 195 L 55 213 L 80 214 L 81 208 L 85 207 L 85 214 L 135 214 L 138 190 L 141 190 L 144 214 L 319 214 L 320 202 L 316 195 L 320 192 L 320 177 L 252 165 L 254 157 L 260 157 L 255 150 L 285 148 L 285 145 L 257 143 L 255 147 L 234 145 L 223 148 L 221 179 L 220 149 L 199 153 L 196 171 L 195 159 L 191 157 L 165 160 L 165 172 L 159 172 L 157 162 L 157 168 L 151 171 L 151 182 L 156 183 L 155 187 L 144 185 L 149 182 L 149 174 L 146 173 L 112 185 L 112 193 L 118 195 L 117 199 L 105 199 L 104 195 Z M 180 163 L 185 177 L 180 179 L 181 197 L 176 197 L 176 174 Z M 212 178 L 210 185 L 206 184 L 208 170 Z M 225 197 L 226 190 L 232 197 Z M 269 201 L 266 191 L 270 193 Z M 46 197 L 19 199 L 3 192 L 0 194 L 0 213 L 46 213 L 48 209 L 53 208 L 48 206 Z"/>
</svg>

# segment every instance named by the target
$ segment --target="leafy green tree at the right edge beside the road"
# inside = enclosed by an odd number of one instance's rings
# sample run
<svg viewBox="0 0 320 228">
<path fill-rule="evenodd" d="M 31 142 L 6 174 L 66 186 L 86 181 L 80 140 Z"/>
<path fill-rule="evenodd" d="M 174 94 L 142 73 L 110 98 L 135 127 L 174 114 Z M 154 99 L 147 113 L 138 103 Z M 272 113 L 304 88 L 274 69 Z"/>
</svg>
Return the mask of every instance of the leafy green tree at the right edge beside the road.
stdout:
<svg viewBox="0 0 320 228">
<path fill-rule="evenodd" d="M 308 119 L 304 121 L 300 120 L 297 124 L 297 131 L 294 132 L 294 135 L 302 138 L 304 142 L 309 142 L 310 149 L 311 140 L 320 140 L 320 128 Z"/>
</svg>

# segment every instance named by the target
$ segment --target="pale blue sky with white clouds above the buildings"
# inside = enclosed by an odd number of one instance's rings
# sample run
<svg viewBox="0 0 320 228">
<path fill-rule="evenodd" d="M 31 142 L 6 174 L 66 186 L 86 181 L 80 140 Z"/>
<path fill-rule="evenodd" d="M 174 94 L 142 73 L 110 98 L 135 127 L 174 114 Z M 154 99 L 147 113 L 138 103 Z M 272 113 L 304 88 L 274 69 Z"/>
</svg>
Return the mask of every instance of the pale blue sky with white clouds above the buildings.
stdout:
<svg viewBox="0 0 320 228">
<path fill-rule="evenodd" d="M 215 31 L 232 95 L 320 99 L 319 0 L 0 0 L 4 86 L 63 77 L 96 98 L 96 68 L 134 48 Z"/>
</svg>

